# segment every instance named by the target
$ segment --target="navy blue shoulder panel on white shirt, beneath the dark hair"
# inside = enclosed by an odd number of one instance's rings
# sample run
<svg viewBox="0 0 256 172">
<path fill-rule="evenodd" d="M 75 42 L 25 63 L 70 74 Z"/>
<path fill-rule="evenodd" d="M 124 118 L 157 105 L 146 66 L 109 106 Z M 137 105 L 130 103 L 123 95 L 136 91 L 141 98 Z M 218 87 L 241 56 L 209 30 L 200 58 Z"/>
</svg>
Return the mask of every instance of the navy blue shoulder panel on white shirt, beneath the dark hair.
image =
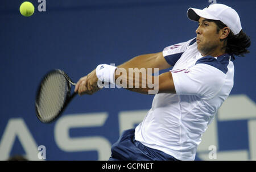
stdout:
<svg viewBox="0 0 256 172">
<path fill-rule="evenodd" d="M 212 56 L 205 56 L 196 61 L 196 64 L 207 64 L 221 70 L 223 73 L 228 72 L 229 57 L 234 61 L 234 56 L 230 54 L 223 54 L 218 56 L 217 59 Z"/>
</svg>

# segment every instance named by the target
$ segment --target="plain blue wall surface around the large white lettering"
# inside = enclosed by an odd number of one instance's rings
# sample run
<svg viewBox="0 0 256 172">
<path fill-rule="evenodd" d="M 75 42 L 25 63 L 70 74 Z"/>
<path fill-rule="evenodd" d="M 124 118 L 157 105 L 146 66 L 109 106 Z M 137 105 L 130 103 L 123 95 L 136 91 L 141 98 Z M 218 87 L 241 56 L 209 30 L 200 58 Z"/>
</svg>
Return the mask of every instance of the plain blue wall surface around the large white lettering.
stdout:
<svg viewBox="0 0 256 172">
<path fill-rule="evenodd" d="M 48 70 L 62 69 L 76 82 L 98 64 L 119 65 L 139 54 L 160 52 L 168 45 L 192 39 L 196 36 L 197 23 L 188 20 L 187 9 L 203 9 L 210 4 L 203 0 L 46 0 L 47 11 L 39 12 L 38 1 L 31 0 L 35 13 L 26 18 L 19 13 L 22 2 L 0 2 L 0 146 L 6 146 L 3 136 L 4 133 L 8 135 L 8 123 L 18 119 L 24 122 L 22 126 L 28 128 L 36 146 L 46 146 L 47 160 L 99 159 L 96 150 L 60 148 L 54 134 L 57 121 L 43 124 L 36 118 L 35 93 Z M 251 53 L 236 60 L 231 95 L 245 95 L 255 108 L 255 1 L 217 2 L 237 10 L 243 31 L 251 37 Z M 119 137 L 120 112 L 149 110 L 153 98 L 124 89 L 100 90 L 92 96 L 76 97 L 61 118 L 71 114 L 86 116 L 92 112 L 106 112 L 108 117 L 101 127 L 73 128 L 69 135 L 71 138 L 101 136 L 113 144 Z M 239 102 L 236 105 L 239 106 Z M 250 117 L 250 120 L 256 119 L 255 112 L 254 115 L 255 118 Z M 247 150 L 247 158 L 252 158 L 254 153 L 251 152 L 255 148 L 248 139 L 249 120 L 232 121 L 217 122 L 218 150 Z M 222 132 L 227 129 L 230 132 Z M 230 135 L 234 135 L 233 140 L 226 139 Z M 20 137 L 15 135 L 15 139 L 9 141 L 13 143 L 9 145 L 10 156 L 27 154 L 24 150 L 26 143 L 20 141 Z M 230 148 L 230 145 L 236 146 Z M 0 152 L 2 159 L 6 158 L 3 154 L 6 152 Z M 197 156 L 196 160 L 200 159 Z"/>
</svg>

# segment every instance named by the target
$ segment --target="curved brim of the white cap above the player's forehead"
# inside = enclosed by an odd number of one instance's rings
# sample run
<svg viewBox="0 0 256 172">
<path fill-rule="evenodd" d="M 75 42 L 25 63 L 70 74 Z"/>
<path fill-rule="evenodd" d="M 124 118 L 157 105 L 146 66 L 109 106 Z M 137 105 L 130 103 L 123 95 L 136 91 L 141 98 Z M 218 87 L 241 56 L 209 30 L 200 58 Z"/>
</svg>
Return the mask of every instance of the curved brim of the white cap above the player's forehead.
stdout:
<svg viewBox="0 0 256 172">
<path fill-rule="evenodd" d="M 207 11 L 205 10 L 200 10 L 200 9 L 193 9 L 189 8 L 187 11 L 187 16 L 190 20 L 198 22 L 200 17 L 205 18 L 205 19 L 211 19 L 211 20 L 219 20 L 213 15 L 210 15 Z"/>
</svg>

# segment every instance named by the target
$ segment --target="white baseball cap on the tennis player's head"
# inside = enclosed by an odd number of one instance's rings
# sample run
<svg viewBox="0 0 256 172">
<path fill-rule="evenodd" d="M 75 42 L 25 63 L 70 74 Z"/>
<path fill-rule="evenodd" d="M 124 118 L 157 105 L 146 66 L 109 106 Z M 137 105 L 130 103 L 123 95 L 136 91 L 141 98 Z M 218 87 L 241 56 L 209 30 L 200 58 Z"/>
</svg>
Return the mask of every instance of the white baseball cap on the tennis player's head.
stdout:
<svg viewBox="0 0 256 172">
<path fill-rule="evenodd" d="M 187 11 L 187 16 L 189 19 L 196 22 L 200 17 L 205 19 L 220 20 L 230 28 L 234 35 L 237 35 L 242 30 L 240 17 L 237 14 L 237 11 L 220 3 L 210 5 L 203 10 L 189 8 Z"/>
</svg>

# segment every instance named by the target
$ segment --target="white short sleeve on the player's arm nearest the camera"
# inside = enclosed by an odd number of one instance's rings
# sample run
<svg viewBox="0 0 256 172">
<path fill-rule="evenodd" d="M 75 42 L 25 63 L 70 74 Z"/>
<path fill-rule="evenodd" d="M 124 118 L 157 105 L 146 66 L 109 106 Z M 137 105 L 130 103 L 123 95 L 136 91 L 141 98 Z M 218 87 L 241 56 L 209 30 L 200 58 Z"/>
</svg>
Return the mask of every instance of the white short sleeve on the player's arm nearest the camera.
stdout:
<svg viewBox="0 0 256 172">
<path fill-rule="evenodd" d="M 225 82 L 225 73 L 207 64 L 196 64 L 189 69 L 171 72 L 177 95 L 197 95 L 211 99 Z"/>
</svg>

